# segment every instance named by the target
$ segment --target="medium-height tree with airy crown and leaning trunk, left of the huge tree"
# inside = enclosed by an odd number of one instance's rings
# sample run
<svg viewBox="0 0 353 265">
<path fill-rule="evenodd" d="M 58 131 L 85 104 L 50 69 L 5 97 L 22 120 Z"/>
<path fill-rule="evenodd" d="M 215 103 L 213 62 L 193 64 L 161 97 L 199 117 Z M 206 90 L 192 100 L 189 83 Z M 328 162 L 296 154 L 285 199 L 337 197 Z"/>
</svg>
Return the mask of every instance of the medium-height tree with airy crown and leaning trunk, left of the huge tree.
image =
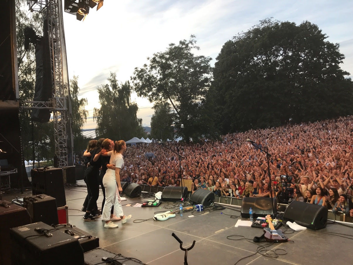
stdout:
<svg viewBox="0 0 353 265">
<path fill-rule="evenodd" d="M 149 65 L 136 67 L 132 77 L 139 96 L 150 102 L 170 102 L 175 111 L 175 134 L 186 142 L 203 135 L 213 137 L 215 132 L 206 100 L 212 78 L 211 58 L 196 56 L 193 49 L 199 49 L 193 35 L 178 45 L 170 43 L 166 51 L 147 58 Z"/>
</svg>

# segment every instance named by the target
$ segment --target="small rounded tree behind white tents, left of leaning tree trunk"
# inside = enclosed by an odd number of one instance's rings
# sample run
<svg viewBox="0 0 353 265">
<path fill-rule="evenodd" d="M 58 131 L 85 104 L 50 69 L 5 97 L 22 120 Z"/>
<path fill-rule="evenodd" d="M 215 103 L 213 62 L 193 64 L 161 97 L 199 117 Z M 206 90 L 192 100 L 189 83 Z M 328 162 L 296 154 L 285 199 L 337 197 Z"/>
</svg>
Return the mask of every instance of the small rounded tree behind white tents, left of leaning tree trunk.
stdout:
<svg viewBox="0 0 353 265">
<path fill-rule="evenodd" d="M 174 124 L 170 105 L 168 102 L 156 102 L 153 106 L 154 114 L 151 118 L 151 137 L 163 141 L 174 139 Z"/>
</svg>

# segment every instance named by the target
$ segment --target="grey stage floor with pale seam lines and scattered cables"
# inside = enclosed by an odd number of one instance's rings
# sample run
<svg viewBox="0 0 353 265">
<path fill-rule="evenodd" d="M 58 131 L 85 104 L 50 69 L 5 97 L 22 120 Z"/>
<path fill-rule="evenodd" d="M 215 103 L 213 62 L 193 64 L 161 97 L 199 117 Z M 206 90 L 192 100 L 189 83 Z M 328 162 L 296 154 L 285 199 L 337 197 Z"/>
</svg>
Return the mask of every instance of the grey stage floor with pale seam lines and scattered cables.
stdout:
<svg viewBox="0 0 353 265">
<path fill-rule="evenodd" d="M 239 211 L 222 210 L 223 213 L 213 211 L 198 216 L 191 216 L 184 212 L 184 216 L 177 214 L 174 218 L 165 221 L 148 220 L 142 223 L 133 223 L 136 219 L 149 219 L 156 211 L 167 211 L 162 203 L 159 207 L 131 207 L 123 206 L 126 215 L 132 214 L 132 219 L 126 224 L 116 222 L 119 228 L 104 228 L 104 223 L 98 218 L 95 222 L 84 222 L 82 219 L 82 203 L 85 199 L 85 188 L 66 188 L 66 202 L 69 208 L 70 224 L 89 231 L 99 237 L 100 247 L 126 257 L 133 257 L 146 264 L 183 264 L 184 252 L 180 250 L 179 243 L 172 237 L 174 232 L 183 242 L 184 247 L 190 247 L 193 240 L 195 247 L 188 252 L 188 262 L 191 264 L 353 264 L 352 240 L 323 232 L 353 235 L 353 229 L 339 224 L 328 224 L 327 228 L 318 231 L 303 230 L 285 233 L 294 242 L 275 243 L 267 249 L 284 249 L 286 255 L 278 258 L 264 257 L 256 253 L 258 247 L 246 240 L 233 241 L 227 239 L 229 235 L 241 235 L 247 238 L 261 236 L 262 229 L 238 227 L 234 225 L 240 218 L 230 218 L 226 214 L 239 216 Z M 31 192 L 27 192 L 31 195 Z M 24 196 L 24 195 L 18 195 Z M 11 201 L 15 194 L 3 195 L 3 200 Z M 148 199 L 127 198 L 122 204 L 143 201 Z M 102 195 L 98 199 L 98 208 L 102 202 Z M 171 206 L 169 203 L 168 206 Z M 286 228 L 283 228 L 286 230 Z M 238 237 L 239 238 L 239 237 Z M 352 237 L 353 238 L 353 237 Z M 258 243 L 266 245 L 265 243 Z M 279 251 L 280 254 L 283 251 Z"/>
</svg>

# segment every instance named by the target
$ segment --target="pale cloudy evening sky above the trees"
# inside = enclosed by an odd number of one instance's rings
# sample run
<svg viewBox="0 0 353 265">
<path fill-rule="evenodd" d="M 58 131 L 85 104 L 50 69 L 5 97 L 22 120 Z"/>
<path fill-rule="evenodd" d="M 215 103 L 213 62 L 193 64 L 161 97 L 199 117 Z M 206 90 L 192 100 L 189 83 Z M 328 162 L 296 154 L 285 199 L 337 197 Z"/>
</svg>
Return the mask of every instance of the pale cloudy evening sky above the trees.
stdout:
<svg viewBox="0 0 353 265">
<path fill-rule="evenodd" d="M 97 86 L 107 83 L 110 72 L 119 81 L 130 80 L 134 67 L 146 57 L 164 51 L 169 43 L 196 35 L 197 54 L 213 58 L 222 45 L 259 20 L 273 17 L 301 23 L 309 20 L 340 43 L 346 59 L 342 69 L 353 75 L 353 5 L 351 1 L 252 1 L 252 0 L 105 0 L 90 10 L 84 22 L 64 13 L 70 78 L 78 76 L 80 97 L 87 98 L 89 116 L 85 129 L 95 128 L 93 108 L 99 107 Z M 132 94 L 138 117 L 150 126 L 152 104 Z"/>
</svg>

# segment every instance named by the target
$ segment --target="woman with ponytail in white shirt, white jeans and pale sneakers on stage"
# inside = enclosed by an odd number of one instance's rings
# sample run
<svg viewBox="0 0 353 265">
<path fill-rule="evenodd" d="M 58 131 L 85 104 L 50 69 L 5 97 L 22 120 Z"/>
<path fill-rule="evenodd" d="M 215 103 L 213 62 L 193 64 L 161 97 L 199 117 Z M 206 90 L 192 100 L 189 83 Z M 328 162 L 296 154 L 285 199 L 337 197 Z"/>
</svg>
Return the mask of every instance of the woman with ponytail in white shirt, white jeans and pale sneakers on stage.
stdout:
<svg viewBox="0 0 353 265">
<path fill-rule="evenodd" d="M 105 221 L 105 228 L 115 228 L 118 227 L 114 224 L 110 218 L 110 209 L 114 205 L 114 216 L 121 218 L 121 223 L 125 224 L 129 219 L 131 219 L 131 214 L 125 216 L 122 212 L 121 199 L 119 192 L 122 192 L 120 184 L 120 170 L 124 168 L 124 158 L 122 154 L 126 151 L 126 143 L 123 140 L 115 141 L 114 150 L 104 153 L 104 155 L 110 156 L 110 165 L 115 165 L 115 170 L 107 169 L 103 177 L 103 186 L 106 190 L 106 202 L 104 203 L 102 220 Z M 118 186 L 116 186 L 118 183 Z"/>
</svg>

